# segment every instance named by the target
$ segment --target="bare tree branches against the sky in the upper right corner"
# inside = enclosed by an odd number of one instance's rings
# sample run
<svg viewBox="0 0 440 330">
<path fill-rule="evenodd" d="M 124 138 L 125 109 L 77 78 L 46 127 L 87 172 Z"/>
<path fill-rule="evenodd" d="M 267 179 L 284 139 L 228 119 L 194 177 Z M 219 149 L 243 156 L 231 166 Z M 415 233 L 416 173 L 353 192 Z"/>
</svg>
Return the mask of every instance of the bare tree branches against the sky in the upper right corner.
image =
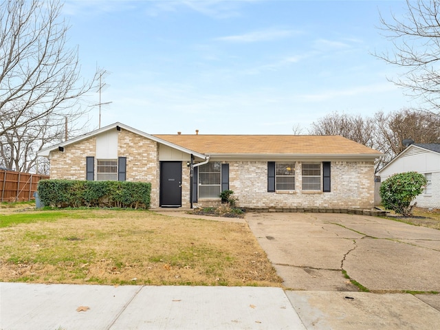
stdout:
<svg viewBox="0 0 440 330">
<path fill-rule="evenodd" d="M 391 21 L 381 15 L 380 29 L 393 43 L 393 51 L 375 53 L 387 63 L 404 69 L 396 85 L 421 98 L 440 116 L 440 1 L 406 0 L 408 12 Z"/>
</svg>

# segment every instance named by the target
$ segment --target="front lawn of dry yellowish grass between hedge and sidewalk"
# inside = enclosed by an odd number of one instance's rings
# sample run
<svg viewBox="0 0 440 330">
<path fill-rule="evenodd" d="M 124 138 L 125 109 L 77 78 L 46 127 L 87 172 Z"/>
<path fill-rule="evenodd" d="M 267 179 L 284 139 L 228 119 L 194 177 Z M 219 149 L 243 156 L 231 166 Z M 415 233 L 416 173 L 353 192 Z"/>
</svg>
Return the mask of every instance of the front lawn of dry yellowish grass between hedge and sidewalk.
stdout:
<svg viewBox="0 0 440 330">
<path fill-rule="evenodd" d="M 23 214 L 39 220 L 0 228 L 0 281 L 281 285 L 245 223 L 133 210 Z"/>
</svg>

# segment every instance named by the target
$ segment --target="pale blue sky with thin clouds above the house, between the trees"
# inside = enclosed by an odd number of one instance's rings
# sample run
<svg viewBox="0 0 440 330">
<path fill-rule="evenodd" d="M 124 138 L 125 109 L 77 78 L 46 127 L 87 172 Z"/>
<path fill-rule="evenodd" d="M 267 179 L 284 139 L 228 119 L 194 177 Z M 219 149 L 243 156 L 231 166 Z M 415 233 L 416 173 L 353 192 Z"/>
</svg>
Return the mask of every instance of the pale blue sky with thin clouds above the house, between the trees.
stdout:
<svg viewBox="0 0 440 330">
<path fill-rule="evenodd" d="M 110 74 L 101 126 L 146 133 L 292 134 L 333 111 L 415 106 L 388 82 L 397 69 L 379 12 L 404 1 L 73 1 L 63 15 L 81 74 Z M 90 94 L 89 102 L 98 102 Z M 98 128 L 98 107 L 89 113 Z"/>
</svg>

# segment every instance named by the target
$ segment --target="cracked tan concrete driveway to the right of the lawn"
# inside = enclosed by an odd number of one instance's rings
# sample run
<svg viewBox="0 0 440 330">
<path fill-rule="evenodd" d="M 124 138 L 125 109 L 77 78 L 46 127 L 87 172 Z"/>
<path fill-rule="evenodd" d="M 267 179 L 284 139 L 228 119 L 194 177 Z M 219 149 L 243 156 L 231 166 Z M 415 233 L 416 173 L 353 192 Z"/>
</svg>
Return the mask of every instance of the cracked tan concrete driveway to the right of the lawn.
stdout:
<svg viewBox="0 0 440 330">
<path fill-rule="evenodd" d="M 246 221 L 307 329 L 440 324 L 440 295 L 430 294 L 440 292 L 439 230 L 354 214 L 252 213 Z"/>
</svg>

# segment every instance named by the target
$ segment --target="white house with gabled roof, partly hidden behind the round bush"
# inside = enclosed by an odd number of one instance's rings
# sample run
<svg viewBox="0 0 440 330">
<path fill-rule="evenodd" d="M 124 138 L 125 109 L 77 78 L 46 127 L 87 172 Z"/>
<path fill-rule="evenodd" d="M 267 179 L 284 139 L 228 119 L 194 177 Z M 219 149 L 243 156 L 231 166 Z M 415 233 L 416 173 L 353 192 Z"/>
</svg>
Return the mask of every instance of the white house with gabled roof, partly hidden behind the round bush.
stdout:
<svg viewBox="0 0 440 330">
<path fill-rule="evenodd" d="M 380 181 L 396 173 L 415 171 L 428 180 L 425 190 L 417 196 L 417 206 L 440 208 L 440 144 L 411 144 L 377 172 Z"/>
</svg>

